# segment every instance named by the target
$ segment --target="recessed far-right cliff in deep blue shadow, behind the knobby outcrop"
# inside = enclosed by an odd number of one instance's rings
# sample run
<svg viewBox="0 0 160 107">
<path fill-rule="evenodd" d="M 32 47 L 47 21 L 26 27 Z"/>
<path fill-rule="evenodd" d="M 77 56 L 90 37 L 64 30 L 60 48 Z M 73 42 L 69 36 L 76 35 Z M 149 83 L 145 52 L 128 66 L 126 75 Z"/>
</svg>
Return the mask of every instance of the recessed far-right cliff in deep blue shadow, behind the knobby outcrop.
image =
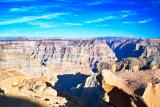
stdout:
<svg viewBox="0 0 160 107">
<path fill-rule="evenodd" d="M 150 58 L 160 55 L 159 39 L 123 39 L 106 41 L 119 60 L 127 57 Z"/>
</svg>

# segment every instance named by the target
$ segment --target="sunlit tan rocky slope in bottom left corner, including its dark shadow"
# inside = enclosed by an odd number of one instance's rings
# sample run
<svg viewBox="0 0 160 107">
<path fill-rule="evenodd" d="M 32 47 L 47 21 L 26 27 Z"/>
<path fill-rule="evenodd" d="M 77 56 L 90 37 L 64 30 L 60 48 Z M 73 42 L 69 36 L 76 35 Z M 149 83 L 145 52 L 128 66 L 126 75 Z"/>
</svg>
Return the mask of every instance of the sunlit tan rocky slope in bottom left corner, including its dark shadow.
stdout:
<svg viewBox="0 0 160 107">
<path fill-rule="evenodd" d="M 0 105 L 5 107 L 60 107 L 68 102 L 66 98 L 57 96 L 57 91 L 48 85 L 47 77 L 5 70 L 0 72 L 0 78 Z"/>
</svg>

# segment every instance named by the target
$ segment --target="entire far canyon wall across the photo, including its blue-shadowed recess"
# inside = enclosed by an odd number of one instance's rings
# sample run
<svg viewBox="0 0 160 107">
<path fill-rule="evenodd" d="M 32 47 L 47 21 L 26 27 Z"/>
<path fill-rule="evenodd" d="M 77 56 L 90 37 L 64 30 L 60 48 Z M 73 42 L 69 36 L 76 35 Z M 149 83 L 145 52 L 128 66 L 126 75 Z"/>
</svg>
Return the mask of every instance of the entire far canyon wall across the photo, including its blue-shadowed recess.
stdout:
<svg viewBox="0 0 160 107">
<path fill-rule="evenodd" d="M 138 61 L 137 69 L 154 69 L 160 67 L 159 43 L 159 39 L 53 39 L 2 42 L 0 43 L 0 67 L 1 69 L 18 68 L 33 75 L 53 71 L 91 74 L 91 72 L 97 72 L 100 62 L 110 63 L 120 60 L 118 64 L 113 63 L 111 68 L 114 69 L 114 65 L 120 67 L 115 70 L 132 68 L 134 65 L 130 59 L 133 58 L 124 58 L 134 57 Z M 128 61 L 131 64 L 126 64 Z"/>
</svg>

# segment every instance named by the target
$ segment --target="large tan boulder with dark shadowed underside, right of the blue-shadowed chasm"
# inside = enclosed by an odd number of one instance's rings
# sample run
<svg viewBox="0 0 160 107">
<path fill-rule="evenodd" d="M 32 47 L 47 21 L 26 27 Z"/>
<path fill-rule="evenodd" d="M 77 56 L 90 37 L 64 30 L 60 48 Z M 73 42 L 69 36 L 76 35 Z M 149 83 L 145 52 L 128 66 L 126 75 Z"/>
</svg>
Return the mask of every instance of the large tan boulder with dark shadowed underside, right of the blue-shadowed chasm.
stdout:
<svg viewBox="0 0 160 107">
<path fill-rule="evenodd" d="M 140 97 L 134 95 L 132 87 L 109 70 L 103 70 L 98 76 L 105 91 L 104 100 L 115 107 L 146 107 Z"/>
</svg>

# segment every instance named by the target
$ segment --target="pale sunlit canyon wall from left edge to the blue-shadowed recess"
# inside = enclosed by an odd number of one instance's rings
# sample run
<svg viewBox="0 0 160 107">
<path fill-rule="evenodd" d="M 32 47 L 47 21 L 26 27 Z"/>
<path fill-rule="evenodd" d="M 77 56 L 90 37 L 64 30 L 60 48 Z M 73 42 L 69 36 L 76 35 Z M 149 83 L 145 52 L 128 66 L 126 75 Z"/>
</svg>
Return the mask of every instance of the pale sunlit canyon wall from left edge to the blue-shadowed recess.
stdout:
<svg viewBox="0 0 160 107">
<path fill-rule="evenodd" d="M 51 69 L 90 74 L 90 68 L 97 62 L 116 61 L 115 54 L 101 40 L 4 42 L 0 45 L 0 56 L 1 69 L 19 68 L 32 74 Z"/>
</svg>

